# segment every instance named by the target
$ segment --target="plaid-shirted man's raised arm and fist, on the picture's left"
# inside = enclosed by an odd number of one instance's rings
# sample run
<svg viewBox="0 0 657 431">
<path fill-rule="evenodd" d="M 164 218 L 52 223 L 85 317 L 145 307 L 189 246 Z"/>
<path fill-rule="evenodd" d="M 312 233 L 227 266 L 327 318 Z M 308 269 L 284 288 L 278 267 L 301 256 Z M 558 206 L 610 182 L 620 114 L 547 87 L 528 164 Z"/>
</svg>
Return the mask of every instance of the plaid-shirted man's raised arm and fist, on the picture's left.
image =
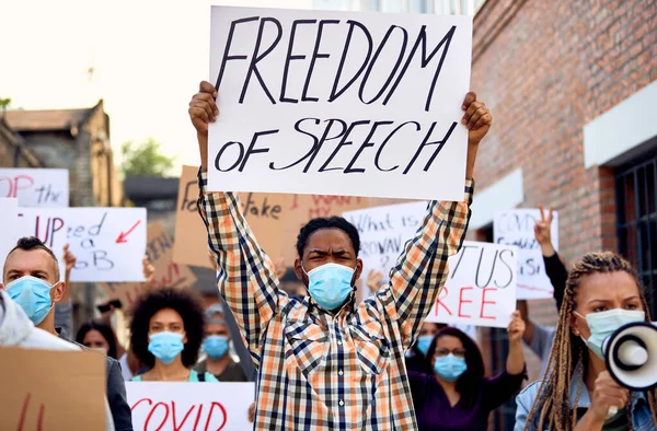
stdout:
<svg viewBox="0 0 657 431">
<path fill-rule="evenodd" d="M 189 103 L 189 117 L 196 128 L 200 152 L 198 212 L 208 230 L 208 245 L 217 259 L 219 293 L 231 308 L 249 350 L 260 362 L 261 337 L 278 313 L 278 279 L 274 264 L 261 249 L 241 211 L 237 195 L 207 193 L 208 123 L 219 109 L 217 92 L 201 82 Z"/>
</svg>

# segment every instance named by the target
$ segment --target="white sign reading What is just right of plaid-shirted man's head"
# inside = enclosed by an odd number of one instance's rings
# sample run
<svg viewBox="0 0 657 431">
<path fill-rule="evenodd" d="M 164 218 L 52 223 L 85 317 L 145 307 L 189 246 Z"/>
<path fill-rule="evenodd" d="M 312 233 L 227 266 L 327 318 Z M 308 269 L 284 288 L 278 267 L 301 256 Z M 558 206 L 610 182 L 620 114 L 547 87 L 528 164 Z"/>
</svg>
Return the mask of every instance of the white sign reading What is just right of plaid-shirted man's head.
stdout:
<svg viewBox="0 0 657 431">
<path fill-rule="evenodd" d="M 389 280 L 406 241 L 415 235 L 427 213 L 427 202 L 412 202 L 348 211 L 343 214 L 360 234 L 360 258 L 365 277 L 370 270 Z"/>
</svg>

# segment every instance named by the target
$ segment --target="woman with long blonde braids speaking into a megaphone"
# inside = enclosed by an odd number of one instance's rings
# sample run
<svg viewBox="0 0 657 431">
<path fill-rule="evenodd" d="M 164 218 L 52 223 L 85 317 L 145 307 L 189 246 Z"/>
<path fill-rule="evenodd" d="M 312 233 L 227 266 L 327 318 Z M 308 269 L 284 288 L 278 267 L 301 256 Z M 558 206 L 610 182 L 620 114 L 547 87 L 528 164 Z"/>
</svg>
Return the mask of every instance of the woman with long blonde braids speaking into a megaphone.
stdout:
<svg viewBox="0 0 657 431">
<path fill-rule="evenodd" d="M 543 382 L 518 395 L 516 431 L 655 430 L 655 391 L 629 392 L 607 371 L 602 342 L 621 326 L 649 321 L 638 277 L 613 253 L 590 253 L 566 282 Z"/>
</svg>

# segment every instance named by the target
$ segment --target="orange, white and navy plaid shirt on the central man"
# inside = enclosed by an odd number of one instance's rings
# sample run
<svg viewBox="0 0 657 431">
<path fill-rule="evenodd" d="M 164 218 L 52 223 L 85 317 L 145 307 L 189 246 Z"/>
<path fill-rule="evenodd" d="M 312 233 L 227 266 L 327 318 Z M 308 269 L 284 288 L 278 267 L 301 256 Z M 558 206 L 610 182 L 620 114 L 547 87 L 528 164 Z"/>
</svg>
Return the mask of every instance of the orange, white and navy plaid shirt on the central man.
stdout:
<svg viewBox="0 0 657 431">
<path fill-rule="evenodd" d="M 390 272 L 390 284 L 335 315 L 278 289 L 274 264 L 257 245 L 237 195 L 207 193 L 199 213 L 217 256 L 219 292 L 232 310 L 258 370 L 255 429 L 417 429 L 404 352 L 415 342 L 461 246 L 472 202 L 429 203 L 422 226 Z"/>
</svg>

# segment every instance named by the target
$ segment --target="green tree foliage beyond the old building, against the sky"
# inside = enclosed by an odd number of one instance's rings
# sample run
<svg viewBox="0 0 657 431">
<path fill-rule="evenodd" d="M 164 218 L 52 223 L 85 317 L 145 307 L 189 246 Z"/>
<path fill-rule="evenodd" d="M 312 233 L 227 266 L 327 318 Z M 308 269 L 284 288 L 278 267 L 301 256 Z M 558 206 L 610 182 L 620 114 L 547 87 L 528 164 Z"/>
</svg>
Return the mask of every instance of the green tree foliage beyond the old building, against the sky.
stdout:
<svg viewBox="0 0 657 431">
<path fill-rule="evenodd" d="M 175 158 L 163 154 L 161 147 L 162 144 L 152 138 L 138 145 L 124 142 L 120 148 L 120 170 L 124 176 L 164 177 L 171 174 Z"/>
</svg>

